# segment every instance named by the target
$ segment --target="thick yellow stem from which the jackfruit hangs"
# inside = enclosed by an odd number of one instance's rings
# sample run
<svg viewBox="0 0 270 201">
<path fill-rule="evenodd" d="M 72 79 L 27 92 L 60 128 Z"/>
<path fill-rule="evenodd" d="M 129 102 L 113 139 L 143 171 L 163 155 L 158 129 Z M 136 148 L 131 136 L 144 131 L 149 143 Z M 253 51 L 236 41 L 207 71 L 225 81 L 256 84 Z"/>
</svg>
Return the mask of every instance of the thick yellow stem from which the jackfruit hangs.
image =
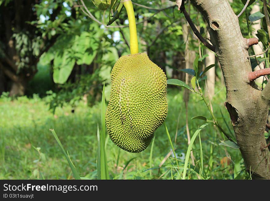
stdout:
<svg viewBox="0 0 270 201">
<path fill-rule="evenodd" d="M 125 6 L 129 19 L 130 53 L 138 54 L 139 53 L 138 38 L 133 5 L 131 0 L 124 0 L 122 2 Z"/>
</svg>

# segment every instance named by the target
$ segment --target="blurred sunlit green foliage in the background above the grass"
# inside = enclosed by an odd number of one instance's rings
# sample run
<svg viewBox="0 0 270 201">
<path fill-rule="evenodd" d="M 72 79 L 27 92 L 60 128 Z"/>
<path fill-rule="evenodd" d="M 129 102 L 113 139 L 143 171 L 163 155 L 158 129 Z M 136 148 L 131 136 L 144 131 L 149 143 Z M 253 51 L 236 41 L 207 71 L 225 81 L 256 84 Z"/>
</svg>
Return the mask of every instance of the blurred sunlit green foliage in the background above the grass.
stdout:
<svg viewBox="0 0 270 201">
<path fill-rule="evenodd" d="M 12 35 L 19 58 L 16 61 L 17 74 L 26 75 L 29 70 L 37 73 L 39 70 L 37 66 L 43 66 L 43 69 L 47 69 L 46 78 L 44 76 L 42 78 L 39 73 L 33 76 L 33 80 L 29 81 L 27 94 L 31 95 L 32 92 L 35 92 L 43 96 L 46 95 L 46 90 L 51 89 L 52 93 L 60 93 L 62 95 L 59 95 L 59 97 L 62 97 L 63 91 L 65 91 L 66 95 L 62 101 L 56 100 L 57 95 L 52 100 L 51 105 L 54 106 L 61 106 L 64 102 L 70 102 L 76 97 L 82 99 L 84 95 L 87 96 L 91 87 L 99 90 L 99 86 L 104 81 L 99 73 L 105 72 L 104 69 L 107 73 L 105 84 L 106 99 L 108 100 L 110 96 L 110 70 L 119 56 L 129 54 L 129 29 L 125 9 L 118 13 L 118 19 L 111 24 L 114 27 L 106 27 L 106 24 L 114 17 L 114 12 L 118 8 L 120 0 L 84 0 L 83 2 L 99 23 L 82 12 L 82 9 L 85 10 L 85 8 L 82 7 L 81 1 L 40 0 L 32 6 L 33 15 L 36 16 L 36 19 L 26 22 L 34 30 L 35 35 L 33 35 L 33 31 L 30 32 L 27 28 L 14 29 Z M 137 0 L 133 2 L 140 52 L 146 51 L 154 63 L 165 72 L 168 71 L 168 77 L 174 76 L 174 73 L 179 73 L 178 70 L 184 68 L 185 44 L 182 27 L 183 24 L 187 24 L 187 21 L 183 14 L 177 10 L 175 1 Z M 262 8 L 261 1 L 251 2 L 253 4 L 247 8 L 248 15 L 250 15 L 249 13 L 255 3 Z M 11 1 L 1 0 L 1 4 L 9 6 Z M 207 25 L 203 17 L 189 1 L 185 1 L 185 4 L 192 21 L 203 37 L 206 37 Z M 238 14 L 243 8 L 243 1 L 234 0 L 231 2 L 231 6 L 233 11 Z M 263 11 L 261 12 L 263 13 Z M 265 20 L 262 19 L 262 29 L 257 36 L 266 47 L 268 45 L 268 34 Z M 248 23 L 252 25 L 254 22 L 249 21 Z M 249 37 L 245 13 L 239 17 L 239 24 L 243 36 Z M 118 28 L 118 25 L 125 27 Z M 250 29 L 252 31 L 252 27 Z M 204 54 L 205 47 L 198 39 L 193 37 L 192 33 L 188 37 L 189 48 L 197 53 L 200 51 L 202 57 L 206 56 Z M 1 41 L 0 55 L 6 52 L 5 46 L 6 44 Z M 268 52 L 266 54 L 268 55 Z M 37 62 L 33 62 L 33 60 Z M 204 60 L 199 62 L 199 69 L 203 70 L 203 68 L 205 68 Z M 170 73 L 170 70 L 172 73 Z M 216 68 L 216 74 L 217 77 L 222 76 L 219 68 Z M 87 83 L 91 86 L 85 87 L 79 84 L 83 80 L 87 80 L 86 77 L 89 77 Z M 38 84 L 39 79 L 43 86 Z M 47 79 L 48 82 L 46 82 Z M 55 84 L 52 84 L 52 80 Z M 49 87 L 45 87 L 44 83 L 47 83 Z M 37 90 L 38 85 L 41 86 L 40 91 Z M 76 91 L 78 94 L 75 93 Z M 89 103 L 93 103 L 92 100 Z"/>
</svg>

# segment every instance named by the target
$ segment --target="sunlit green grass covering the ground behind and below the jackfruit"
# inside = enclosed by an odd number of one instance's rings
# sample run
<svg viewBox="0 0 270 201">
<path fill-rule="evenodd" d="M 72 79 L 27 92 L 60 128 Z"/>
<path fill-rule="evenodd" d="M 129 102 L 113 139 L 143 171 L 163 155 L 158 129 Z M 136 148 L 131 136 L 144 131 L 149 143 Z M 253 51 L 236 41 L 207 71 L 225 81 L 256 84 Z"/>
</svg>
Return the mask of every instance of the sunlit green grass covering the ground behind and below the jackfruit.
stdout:
<svg viewBox="0 0 270 201">
<path fill-rule="evenodd" d="M 223 104 L 226 89 L 219 88 L 212 101 L 214 114 L 222 128 L 229 132 L 229 128 L 233 129 Z M 64 150 L 68 151 L 80 177 L 97 179 L 97 125 L 102 125 L 102 104 L 97 102 L 88 107 L 82 101 L 75 113 L 71 113 L 71 106 L 65 105 L 57 108 L 53 115 L 45 99 L 37 95 L 31 99 L 25 96 L 14 100 L 3 96 L 0 98 L 0 179 L 73 179 L 72 170 L 49 130 L 51 128 L 56 131 Z M 196 94 L 191 94 L 188 107 L 192 137 L 204 122 L 191 118 L 203 115 L 211 119 L 211 116 Z M 175 154 L 169 156 L 172 147 L 163 125 L 155 132 L 153 146 L 151 144 L 145 151 L 136 154 L 119 149 L 110 139 L 107 140 L 106 134 L 105 150 L 110 179 L 181 179 L 188 149 L 184 111 L 183 92 L 179 88 L 169 88 L 166 125 L 171 139 L 175 139 L 177 133 L 177 141 L 173 142 Z M 218 145 L 223 138 L 216 128 L 207 125 L 200 131 L 200 139 L 201 143 L 196 137 L 191 147 L 196 164 L 192 166 L 190 160 L 186 162 L 186 179 L 249 178 L 245 171 L 241 171 L 244 164 L 243 159 L 239 159 L 240 151 Z M 231 158 L 230 164 L 222 164 L 224 157 Z"/>
</svg>

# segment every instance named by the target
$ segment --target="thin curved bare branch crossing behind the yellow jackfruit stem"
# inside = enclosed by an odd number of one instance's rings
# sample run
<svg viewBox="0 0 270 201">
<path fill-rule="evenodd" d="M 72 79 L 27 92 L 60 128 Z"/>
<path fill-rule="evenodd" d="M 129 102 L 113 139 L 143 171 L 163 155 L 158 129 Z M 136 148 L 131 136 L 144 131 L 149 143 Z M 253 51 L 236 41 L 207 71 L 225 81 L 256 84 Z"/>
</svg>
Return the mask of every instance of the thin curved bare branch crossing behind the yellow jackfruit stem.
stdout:
<svg viewBox="0 0 270 201">
<path fill-rule="evenodd" d="M 81 2 L 82 2 L 82 4 L 83 4 L 83 7 L 81 7 L 81 6 L 77 6 L 77 7 L 80 7 L 80 9 L 83 11 L 83 13 L 84 13 L 85 15 L 87 15 L 88 17 L 90 17 L 92 20 L 94 20 L 94 21 L 97 22 L 98 24 L 104 25 L 104 26 L 107 27 L 107 28 L 125 28 L 125 27 L 129 27 L 129 25 L 123 25 L 123 26 L 107 26 L 106 24 L 102 23 L 101 21 L 99 21 L 97 18 L 94 17 L 94 15 L 90 12 L 90 10 L 87 9 L 87 7 L 85 6 L 85 3 L 83 2 L 83 0 L 81 0 Z M 146 21 L 146 20 L 149 20 L 150 18 L 154 17 L 154 16 L 155 16 L 157 13 L 159 13 L 160 11 L 163 11 L 163 10 L 169 9 L 169 8 L 173 8 L 173 7 L 175 7 L 175 5 L 174 5 L 174 6 L 168 6 L 168 7 L 165 7 L 165 8 L 158 9 L 158 10 L 156 11 L 156 13 L 154 13 L 152 16 L 150 16 L 150 17 L 148 17 L 148 18 L 142 20 L 141 22 L 137 22 L 136 25 L 137 25 L 137 24 L 141 24 L 141 23 L 143 23 L 143 22 Z M 84 8 L 85 10 L 84 10 L 83 8 Z M 154 9 L 154 10 L 156 10 L 156 9 Z"/>
</svg>

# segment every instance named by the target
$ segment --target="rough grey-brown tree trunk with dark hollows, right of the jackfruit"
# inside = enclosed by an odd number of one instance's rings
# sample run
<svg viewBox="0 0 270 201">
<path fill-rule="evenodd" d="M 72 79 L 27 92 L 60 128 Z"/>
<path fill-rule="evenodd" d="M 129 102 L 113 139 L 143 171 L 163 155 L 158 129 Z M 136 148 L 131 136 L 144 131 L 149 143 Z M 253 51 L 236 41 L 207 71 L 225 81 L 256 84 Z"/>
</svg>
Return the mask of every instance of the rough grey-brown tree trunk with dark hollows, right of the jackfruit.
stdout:
<svg viewBox="0 0 270 201">
<path fill-rule="evenodd" d="M 245 166 L 253 179 L 270 179 L 270 154 L 264 129 L 270 105 L 270 84 L 263 91 L 249 82 L 252 72 L 238 18 L 227 0 L 191 0 L 209 24 L 211 42 L 226 84 L 226 107 Z"/>
</svg>

